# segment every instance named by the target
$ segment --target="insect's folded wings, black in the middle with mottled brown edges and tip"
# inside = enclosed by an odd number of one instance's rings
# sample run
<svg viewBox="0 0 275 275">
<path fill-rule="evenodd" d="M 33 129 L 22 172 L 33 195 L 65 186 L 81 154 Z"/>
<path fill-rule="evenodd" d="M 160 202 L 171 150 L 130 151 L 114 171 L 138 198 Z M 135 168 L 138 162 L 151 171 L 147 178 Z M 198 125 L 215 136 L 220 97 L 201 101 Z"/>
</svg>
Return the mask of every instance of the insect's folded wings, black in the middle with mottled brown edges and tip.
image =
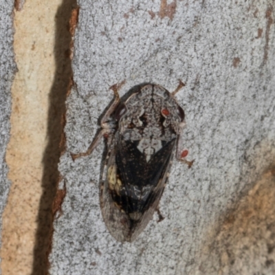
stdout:
<svg viewBox="0 0 275 275">
<path fill-rule="evenodd" d="M 137 155 L 134 144 L 119 141 L 118 132 L 114 139 L 107 154 L 104 174 L 112 167 L 122 186 L 119 193 L 111 190 L 106 177 L 101 184 L 100 207 L 111 235 L 118 241 L 131 242 L 152 219 L 162 197 L 175 139 L 164 144 L 148 163 L 142 160 L 142 153 Z M 140 196 L 137 196 L 138 190 L 133 186 L 140 187 Z"/>
</svg>

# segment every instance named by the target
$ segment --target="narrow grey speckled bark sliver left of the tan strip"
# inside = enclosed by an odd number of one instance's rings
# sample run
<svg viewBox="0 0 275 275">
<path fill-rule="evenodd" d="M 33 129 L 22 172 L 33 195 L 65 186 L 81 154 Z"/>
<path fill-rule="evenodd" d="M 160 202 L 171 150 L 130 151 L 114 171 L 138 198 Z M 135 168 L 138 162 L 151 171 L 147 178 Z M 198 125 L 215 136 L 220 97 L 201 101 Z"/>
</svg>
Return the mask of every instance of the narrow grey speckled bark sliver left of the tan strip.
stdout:
<svg viewBox="0 0 275 275">
<path fill-rule="evenodd" d="M 0 1 L 0 228 L 2 213 L 10 190 L 8 166 L 5 162 L 5 150 L 10 139 L 10 89 L 16 71 L 13 52 L 13 1 Z M 1 273 L 1 271 L 0 271 Z"/>
</svg>

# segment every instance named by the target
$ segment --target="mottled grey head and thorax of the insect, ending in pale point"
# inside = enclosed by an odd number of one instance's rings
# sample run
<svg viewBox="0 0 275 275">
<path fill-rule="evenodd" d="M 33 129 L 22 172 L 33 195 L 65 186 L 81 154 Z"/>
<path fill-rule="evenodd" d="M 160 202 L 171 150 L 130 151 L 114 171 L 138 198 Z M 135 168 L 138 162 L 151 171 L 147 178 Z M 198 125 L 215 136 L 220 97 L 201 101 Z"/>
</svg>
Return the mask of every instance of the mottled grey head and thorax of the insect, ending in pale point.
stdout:
<svg viewBox="0 0 275 275">
<path fill-rule="evenodd" d="M 146 85 L 126 102 L 120 118 L 122 140 L 135 142 L 146 161 L 179 133 L 178 104 L 170 93 L 157 85 Z"/>
</svg>

